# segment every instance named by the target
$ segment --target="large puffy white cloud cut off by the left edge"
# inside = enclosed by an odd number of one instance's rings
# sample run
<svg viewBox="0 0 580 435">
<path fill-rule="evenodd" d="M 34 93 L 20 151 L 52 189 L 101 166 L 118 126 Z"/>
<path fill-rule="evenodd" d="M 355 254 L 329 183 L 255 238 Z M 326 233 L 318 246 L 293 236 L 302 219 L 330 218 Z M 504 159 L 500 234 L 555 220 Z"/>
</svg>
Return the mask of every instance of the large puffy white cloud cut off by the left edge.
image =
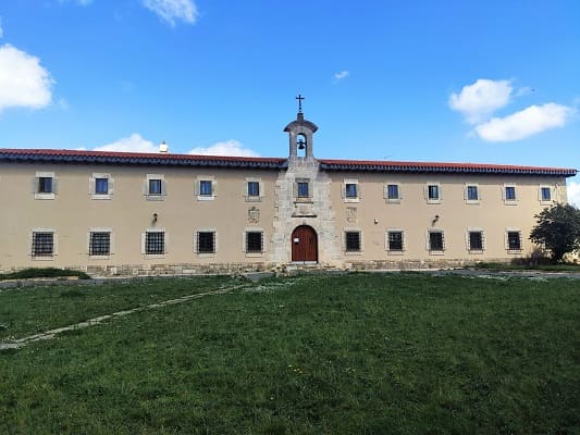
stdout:
<svg viewBox="0 0 580 435">
<path fill-rule="evenodd" d="M 0 112 L 7 108 L 40 109 L 52 100 L 54 80 L 40 60 L 7 44 L 0 47 Z"/>
</svg>

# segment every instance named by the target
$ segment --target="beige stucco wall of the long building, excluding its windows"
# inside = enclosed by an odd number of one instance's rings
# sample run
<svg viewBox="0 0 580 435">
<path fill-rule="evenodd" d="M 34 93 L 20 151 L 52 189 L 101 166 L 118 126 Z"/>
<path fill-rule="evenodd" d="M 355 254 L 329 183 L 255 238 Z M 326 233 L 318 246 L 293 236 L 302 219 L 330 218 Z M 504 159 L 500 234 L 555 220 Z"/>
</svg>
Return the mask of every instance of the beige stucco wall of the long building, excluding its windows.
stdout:
<svg viewBox="0 0 580 435">
<path fill-rule="evenodd" d="M 54 172 L 58 194 L 53 200 L 35 199 L 34 178 L 37 171 Z M 110 200 L 91 199 L 89 178 L 94 173 L 111 174 L 114 192 Z M 144 184 L 147 174 L 163 175 L 166 195 L 161 201 L 147 200 Z M 82 165 L 82 164 L 0 164 L 0 271 L 25 266 L 112 266 L 133 264 L 151 268 L 155 264 L 256 264 L 270 265 L 281 259 L 289 260 L 289 236 L 274 235 L 274 221 L 291 220 L 276 224 L 276 232 L 288 232 L 297 225 L 309 224 L 318 228 L 320 259 L 333 265 L 368 260 L 435 261 L 435 260 L 489 260 L 529 256 L 533 246 L 528 235 L 535 221 L 533 215 L 546 203 L 539 200 L 539 187 L 551 186 L 553 200 L 566 200 L 566 183 L 563 177 L 495 176 L 495 175 L 414 175 L 375 174 L 369 172 L 329 172 L 324 191 L 330 197 L 319 198 L 313 210 L 317 217 L 287 217 L 280 212 L 285 207 L 281 179 L 276 170 L 197 169 L 175 166 L 138 165 Z M 215 198 L 198 200 L 195 182 L 198 177 L 211 177 L 215 182 Z M 248 202 L 245 197 L 246 179 L 259 179 L 262 198 Z M 321 178 L 322 179 L 322 178 Z M 360 198 L 345 201 L 345 179 L 356 181 Z M 276 185 L 277 181 L 277 185 Z M 425 185 L 441 185 L 441 203 L 428 203 Z M 466 203 L 466 183 L 479 186 L 479 203 Z M 390 203 L 384 199 L 386 184 L 399 184 L 402 199 Z M 518 201 L 506 204 L 502 191 L 504 184 L 516 186 Z M 316 184 L 312 186 L 317 189 Z M 288 187 L 289 188 L 289 187 Z M 326 196 L 326 194 L 324 195 Z M 284 196 L 284 201 L 288 200 Z M 287 215 L 295 204 L 286 204 Z M 258 222 L 252 222 L 248 210 L 259 211 Z M 347 209 L 356 209 L 347 215 Z M 277 211 L 277 214 L 276 214 Z M 158 214 L 152 222 L 153 213 Z M 435 215 L 439 220 L 434 221 Z M 325 217 L 324 217 L 325 216 Z M 328 222 L 334 216 L 334 226 Z M 316 221 L 318 219 L 318 221 Z M 377 222 L 377 223 L 375 223 Z M 48 260 L 33 259 L 30 237 L 34 228 L 51 228 L 55 232 L 57 254 Z M 107 259 L 88 256 L 90 228 L 111 228 L 113 252 Z M 146 256 L 141 253 L 141 235 L 146 229 L 164 229 L 166 253 Z M 214 228 L 218 234 L 214 256 L 194 252 L 194 233 L 200 228 Z M 244 252 L 246 229 L 264 232 L 266 252 L 261 256 Z M 403 254 L 388 253 L 385 234 L 388 228 L 405 233 Z M 427 233 L 431 228 L 444 231 L 445 251 L 432 254 L 427 249 Z M 468 228 L 484 232 L 483 253 L 467 250 Z M 506 249 L 506 229 L 521 231 L 522 250 L 510 253 Z M 358 229 L 362 234 L 360 253 L 346 253 L 344 231 Z M 273 246 L 286 240 L 288 246 Z M 332 245 L 332 246 L 331 246 Z M 332 256 L 330 253 L 331 252 Z M 337 257 L 336 257 L 337 256 Z M 335 261 L 337 259 L 337 261 Z M 332 260 L 332 261 L 331 261 Z"/>
</svg>

